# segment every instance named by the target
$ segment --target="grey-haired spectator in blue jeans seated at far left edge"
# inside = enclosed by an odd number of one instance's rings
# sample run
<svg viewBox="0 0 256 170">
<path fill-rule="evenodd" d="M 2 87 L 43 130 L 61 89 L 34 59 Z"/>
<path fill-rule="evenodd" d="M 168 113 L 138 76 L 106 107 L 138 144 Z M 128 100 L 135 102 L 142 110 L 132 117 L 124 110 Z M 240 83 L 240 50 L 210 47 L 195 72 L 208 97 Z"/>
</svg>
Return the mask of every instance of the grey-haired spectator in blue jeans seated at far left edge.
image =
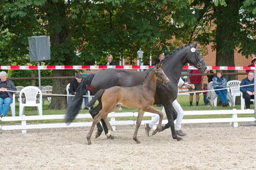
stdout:
<svg viewBox="0 0 256 170">
<path fill-rule="evenodd" d="M 12 95 L 14 92 L 5 91 L 11 90 L 16 91 L 15 85 L 12 81 L 6 78 L 6 72 L 0 72 L 0 117 L 7 116 L 10 104 L 12 104 Z"/>
</svg>

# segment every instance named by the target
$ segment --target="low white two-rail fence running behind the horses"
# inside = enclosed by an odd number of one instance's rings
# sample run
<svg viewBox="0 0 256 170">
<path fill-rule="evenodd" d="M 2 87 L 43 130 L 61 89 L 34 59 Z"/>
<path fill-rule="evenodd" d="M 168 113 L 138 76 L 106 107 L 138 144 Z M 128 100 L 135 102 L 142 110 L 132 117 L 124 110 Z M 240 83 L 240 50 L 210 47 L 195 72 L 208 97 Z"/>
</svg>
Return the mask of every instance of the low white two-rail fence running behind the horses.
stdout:
<svg viewBox="0 0 256 170">
<path fill-rule="evenodd" d="M 184 115 L 216 115 L 216 114 L 230 114 L 230 118 L 205 118 L 205 119 L 183 119 L 182 123 L 230 123 L 234 127 L 238 127 L 239 122 L 255 121 L 254 117 L 249 118 L 238 118 L 237 114 L 252 114 L 254 110 L 214 110 L 214 111 L 184 111 Z M 110 124 L 115 130 L 116 125 L 135 125 L 137 120 L 138 112 L 112 112 L 108 114 L 110 118 Z M 144 116 L 151 116 L 152 118 L 156 114 L 151 112 L 145 112 Z M 133 120 L 115 120 L 120 117 L 135 117 Z M 76 118 L 92 118 L 90 114 L 78 114 Z M 28 129 L 36 128 L 66 128 L 66 127 L 90 127 L 92 122 L 74 122 L 70 125 L 65 123 L 37 123 L 28 124 L 27 121 L 32 120 L 63 120 L 64 114 L 56 115 L 42 115 L 42 116 L 10 116 L 3 117 L 1 121 L 21 121 L 21 125 L 2 125 L 2 130 L 22 130 L 22 133 L 26 133 Z M 141 124 L 148 123 L 149 120 L 143 120 Z M 167 120 L 163 120 L 163 123 L 167 123 Z"/>
</svg>

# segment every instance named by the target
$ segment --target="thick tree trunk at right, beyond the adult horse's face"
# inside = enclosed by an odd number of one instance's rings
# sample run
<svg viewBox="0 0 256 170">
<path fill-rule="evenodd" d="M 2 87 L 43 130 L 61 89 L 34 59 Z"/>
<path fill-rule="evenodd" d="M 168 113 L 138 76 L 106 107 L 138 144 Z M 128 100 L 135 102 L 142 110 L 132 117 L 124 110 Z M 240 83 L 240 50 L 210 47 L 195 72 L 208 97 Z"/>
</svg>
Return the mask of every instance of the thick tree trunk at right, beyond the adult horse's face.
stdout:
<svg viewBox="0 0 256 170">
<path fill-rule="evenodd" d="M 239 0 L 226 1 L 227 6 L 216 7 L 216 66 L 235 66 L 235 30 L 238 22 Z M 227 17 L 232 16 L 232 17 Z M 234 72 L 233 70 L 224 70 Z M 234 75 L 225 75 L 227 81 Z"/>
</svg>

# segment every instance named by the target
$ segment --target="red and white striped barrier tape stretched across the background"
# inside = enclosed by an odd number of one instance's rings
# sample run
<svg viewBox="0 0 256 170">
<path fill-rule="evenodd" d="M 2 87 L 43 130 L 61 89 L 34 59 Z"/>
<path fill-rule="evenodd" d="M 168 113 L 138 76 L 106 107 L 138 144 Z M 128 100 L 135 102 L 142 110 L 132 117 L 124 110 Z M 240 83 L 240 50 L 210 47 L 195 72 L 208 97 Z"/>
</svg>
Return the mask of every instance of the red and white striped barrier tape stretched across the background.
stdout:
<svg viewBox="0 0 256 170">
<path fill-rule="evenodd" d="M 107 68 L 116 69 L 148 69 L 152 66 L 0 66 L 0 70 L 99 70 Z M 183 70 L 196 70 L 194 66 L 183 66 Z M 207 70 L 255 70 L 256 67 L 250 66 L 207 66 Z"/>
</svg>

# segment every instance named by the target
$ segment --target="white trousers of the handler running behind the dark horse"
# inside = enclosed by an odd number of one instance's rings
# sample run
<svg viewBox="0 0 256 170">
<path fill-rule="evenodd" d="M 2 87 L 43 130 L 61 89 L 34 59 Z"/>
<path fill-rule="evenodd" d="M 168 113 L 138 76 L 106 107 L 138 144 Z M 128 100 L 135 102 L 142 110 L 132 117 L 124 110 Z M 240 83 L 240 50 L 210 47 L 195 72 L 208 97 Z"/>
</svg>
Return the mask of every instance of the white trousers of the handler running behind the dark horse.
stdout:
<svg viewBox="0 0 256 170">
<path fill-rule="evenodd" d="M 178 103 L 177 100 L 173 101 L 173 108 L 175 111 L 178 113 L 177 118 L 176 118 L 176 123 L 175 123 L 175 130 L 180 130 L 182 128 L 182 118 L 183 118 L 183 109 Z M 162 112 L 164 114 L 164 117 L 166 117 L 166 110 L 162 109 Z M 171 113 L 173 114 L 173 113 Z M 160 119 L 160 116 L 157 114 L 150 122 L 149 122 L 149 127 L 153 127 Z"/>
</svg>

